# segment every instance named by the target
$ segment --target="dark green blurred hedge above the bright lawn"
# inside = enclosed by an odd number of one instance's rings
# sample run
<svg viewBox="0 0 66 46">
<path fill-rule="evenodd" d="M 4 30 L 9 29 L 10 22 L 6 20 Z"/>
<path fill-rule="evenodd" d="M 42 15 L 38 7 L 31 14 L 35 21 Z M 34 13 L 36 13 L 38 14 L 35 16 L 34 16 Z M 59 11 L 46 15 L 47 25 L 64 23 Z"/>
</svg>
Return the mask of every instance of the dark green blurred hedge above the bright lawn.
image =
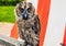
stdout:
<svg viewBox="0 0 66 46">
<path fill-rule="evenodd" d="M 0 5 L 15 5 L 23 0 L 0 0 Z"/>
</svg>

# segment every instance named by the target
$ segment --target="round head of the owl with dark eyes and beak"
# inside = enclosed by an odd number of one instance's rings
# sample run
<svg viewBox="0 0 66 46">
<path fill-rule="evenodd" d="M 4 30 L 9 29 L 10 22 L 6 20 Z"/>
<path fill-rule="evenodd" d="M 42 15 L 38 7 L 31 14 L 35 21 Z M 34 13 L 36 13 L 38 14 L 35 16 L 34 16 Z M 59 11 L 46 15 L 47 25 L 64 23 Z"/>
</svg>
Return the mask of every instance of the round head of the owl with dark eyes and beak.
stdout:
<svg viewBox="0 0 66 46">
<path fill-rule="evenodd" d="M 30 2 L 20 2 L 16 4 L 15 8 L 15 14 L 19 18 L 22 18 L 22 20 L 28 20 L 34 16 L 35 14 L 35 9 Z"/>
</svg>

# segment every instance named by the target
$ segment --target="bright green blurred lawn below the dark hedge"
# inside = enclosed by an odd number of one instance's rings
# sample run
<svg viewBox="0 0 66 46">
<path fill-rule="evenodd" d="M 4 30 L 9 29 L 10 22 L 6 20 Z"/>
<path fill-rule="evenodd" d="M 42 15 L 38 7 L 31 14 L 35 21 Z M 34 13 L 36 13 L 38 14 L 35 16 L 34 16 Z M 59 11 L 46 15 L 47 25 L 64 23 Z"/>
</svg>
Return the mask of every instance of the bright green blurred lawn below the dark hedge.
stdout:
<svg viewBox="0 0 66 46">
<path fill-rule="evenodd" d="M 0 7 L 0 22 L 15 22 L 14 7 Z"/>
</svg>

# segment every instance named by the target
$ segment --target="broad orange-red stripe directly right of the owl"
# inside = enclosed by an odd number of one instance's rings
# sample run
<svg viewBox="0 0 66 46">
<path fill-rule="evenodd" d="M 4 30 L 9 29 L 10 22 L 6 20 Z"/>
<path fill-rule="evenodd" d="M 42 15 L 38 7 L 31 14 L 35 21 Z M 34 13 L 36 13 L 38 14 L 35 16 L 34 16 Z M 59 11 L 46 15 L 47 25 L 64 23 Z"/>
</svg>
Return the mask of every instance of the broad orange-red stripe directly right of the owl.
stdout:
<svg viewBox="0 0 66 46">
<path fill-rule="evenodd" d="M 42 25 L 40 34 L 40 46 L 43 46 L 43 42 L 45 38 L 50 7 L 51 7 L 51 0 L 38 0 L 37 13 Z"/>
</svg>

